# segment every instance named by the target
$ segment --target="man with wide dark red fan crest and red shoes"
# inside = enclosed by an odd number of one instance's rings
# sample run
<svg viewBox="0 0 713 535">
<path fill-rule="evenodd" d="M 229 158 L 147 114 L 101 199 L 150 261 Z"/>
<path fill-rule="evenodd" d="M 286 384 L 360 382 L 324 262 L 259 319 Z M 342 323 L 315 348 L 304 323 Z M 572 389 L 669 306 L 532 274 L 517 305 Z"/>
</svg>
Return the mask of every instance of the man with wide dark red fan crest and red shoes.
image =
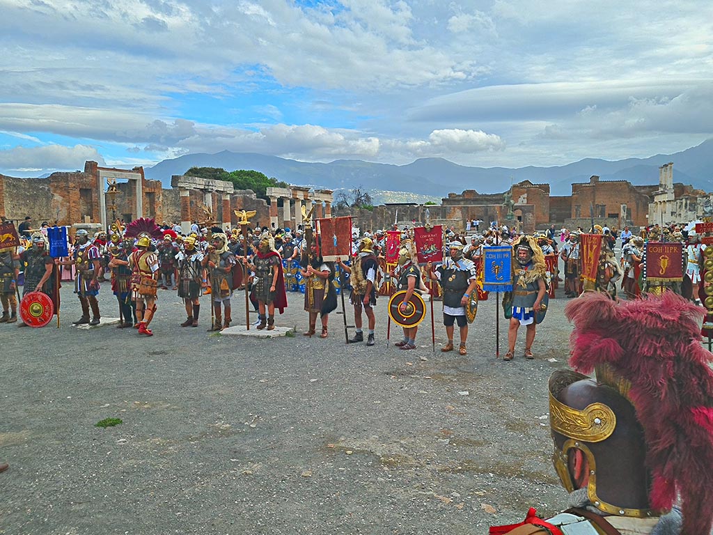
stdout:
<svg viewBox="0 0 713 535">
<path fill-rule="evenodd" d="M 158 257 L 151 250 L 151 240 L 163 239 L 163 232 L 153 219 L 138 218 L 126 225 L 124 235 L 127 238 L 138 238 L 136 250 L 128 258 L 132 271 L 131 300 L 136 303 L 138 332 L 153 336 L 148 326 L 156 312 Z"/>
</svg>

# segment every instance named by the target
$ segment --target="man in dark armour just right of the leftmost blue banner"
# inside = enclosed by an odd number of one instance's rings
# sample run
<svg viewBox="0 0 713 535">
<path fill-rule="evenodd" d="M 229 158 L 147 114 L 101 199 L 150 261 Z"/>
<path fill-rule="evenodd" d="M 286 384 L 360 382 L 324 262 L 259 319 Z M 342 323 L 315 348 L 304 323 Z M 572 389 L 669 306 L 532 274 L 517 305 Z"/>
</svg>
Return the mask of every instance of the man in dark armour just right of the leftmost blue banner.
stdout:
<svg viewBox="0 0 713 535">
<path fill-rule="evenodd" d="M 99 295 L 99 282 L 97 276 L 101 268 L 101 254 L 96 245 L 89 240 L 89 233 L 83 228 L 77 230 L 75 234 L 74 250 L 70 260 L 56 262 L 60 265 L 74 265 L 76 276 L 74 278 L 74 293 L 79 298 L 82 307 L 82 317 L 73 325 L 99 325 L 101 315 L 99 313 L 99 302 L 96 296 Z M 92 319 L 89 320 L 89 309 L 91 307 Z"/>
</svg>

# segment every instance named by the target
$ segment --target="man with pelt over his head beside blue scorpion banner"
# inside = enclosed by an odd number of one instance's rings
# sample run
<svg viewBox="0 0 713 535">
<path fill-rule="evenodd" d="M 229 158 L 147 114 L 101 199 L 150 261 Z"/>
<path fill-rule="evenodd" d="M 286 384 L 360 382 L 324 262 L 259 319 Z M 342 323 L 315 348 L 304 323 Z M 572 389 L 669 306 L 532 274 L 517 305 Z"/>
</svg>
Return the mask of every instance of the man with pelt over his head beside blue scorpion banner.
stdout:
<svg viewBox="0 0 713 535">
<path fill-rule="evenodd" d="M 525 358 L 533 359 L 532 345 L 535 342 L 535 312 L 540 312 L 547 292 L 545 256 L 532 236 L 521 235 L 513 243 L 513 291 L 506 292 L 503 308 L 509 317 L 508 352 L 503 360 L 515 357 L 515 342 L 518 327 L 525 325 Z M 508 313 L 509 312 L 509 313 Z"/>
</svg>

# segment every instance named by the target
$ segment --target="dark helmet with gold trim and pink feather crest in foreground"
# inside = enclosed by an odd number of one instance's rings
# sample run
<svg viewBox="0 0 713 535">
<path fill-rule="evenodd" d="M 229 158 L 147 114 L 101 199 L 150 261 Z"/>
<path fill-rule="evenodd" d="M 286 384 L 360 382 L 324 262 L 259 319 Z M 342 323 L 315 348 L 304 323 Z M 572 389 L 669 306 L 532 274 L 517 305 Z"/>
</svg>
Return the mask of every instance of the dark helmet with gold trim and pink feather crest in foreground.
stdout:
<svg viewBox="0 0 713 535">
<path fill-rule="evenodd" d="M 680 503 L 682 526 L 676 533 L 709 534 L 713 526 L 713 355 L 701 343 L 704 308 L 674 292 L 625 302 L 591 292 L 576 301 L 565 306 L 565 316 L 574 325 L 569 364 L 580 372 L 596 370 L 599 384 L 607 384 L 632 403 L 643 429 L 646 458 L 637 461 L 640 432 L 635 432 L 626 412 L 629 409 L 619 405 L 619 397 L 597 400 L 598 389 L 578 384 L 567 388 L 574 382 L 565 381 L 565 387 L 553 387 L 550 392 L 578 412 L 565 412 L 567 421 L 562 419 L 564 425 L 557 431 L 566 437 L 564 442 L 561 438 L 558 442 L 554 432 L 553 436 L 555 444 L 562 444 L 570 472 L 574 469 L 575 477 L 580 474 L 575 482 L 597 496 L 592 501 L 595 507 L 635 516 L 645 514 L 641 508 L 648 505 L 640 489 L 627 481 L 635 479 L 650 491 L 652 508 L 667 510 Z M 582 412 L 588 413 L 587 419 L 579 419 Z M 615 422 L 610 414 L 615 415 Z M 608 449 L 608 441 L 619 439 L 620 429 L 627 435 L 620 437 L 620 445 Z M 585 447 L 591 452 L 589 457 Z M 581 453 L 570 454 L 570 450 Z M 642 473 L 642 465 L 650 477 Z M 586 472 L 580 469 L 583 466 Z M 616 484 L 610 487 L 612 477 Z"/>
</svg>

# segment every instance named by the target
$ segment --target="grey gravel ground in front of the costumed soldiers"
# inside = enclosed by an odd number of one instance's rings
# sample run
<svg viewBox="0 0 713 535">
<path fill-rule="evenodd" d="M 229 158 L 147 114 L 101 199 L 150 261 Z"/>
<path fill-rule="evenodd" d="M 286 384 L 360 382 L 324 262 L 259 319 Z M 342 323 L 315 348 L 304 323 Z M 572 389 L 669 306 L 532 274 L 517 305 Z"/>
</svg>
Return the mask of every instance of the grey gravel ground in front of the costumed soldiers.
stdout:
<svg viewBox="0 0 713 535">
<path fill-rule="evenodd" d="M 207 297 L 200 327 L 180 328 L 182 302 L 159 295 L 151 338 L 71 327 L 67 283 L 59 329 L 0 325 L 0 534 L 484 534 L 565 506 L 547 419 L 568 357 L 563 296 L 535 360 L 522 329 L 503 362 L 495 295 L 466 357 L 438 351 L 440 302 L 433 352 L 430 317 L 418 349 L 394 347 L 398 328 L 386 342 L 386 298 L 366 347 L 344 343 L 337 313 L 326 340 L 303 337 L 299 294 L 277 315 L 297 336 L 270 340 L 206 332 Z M 118 315 L 108 283 L 100 302 Z M 506 334 L 501 318 L 501 355 Z M 123 424 L 94 426 L 107 417 Z"/>
</svg>

